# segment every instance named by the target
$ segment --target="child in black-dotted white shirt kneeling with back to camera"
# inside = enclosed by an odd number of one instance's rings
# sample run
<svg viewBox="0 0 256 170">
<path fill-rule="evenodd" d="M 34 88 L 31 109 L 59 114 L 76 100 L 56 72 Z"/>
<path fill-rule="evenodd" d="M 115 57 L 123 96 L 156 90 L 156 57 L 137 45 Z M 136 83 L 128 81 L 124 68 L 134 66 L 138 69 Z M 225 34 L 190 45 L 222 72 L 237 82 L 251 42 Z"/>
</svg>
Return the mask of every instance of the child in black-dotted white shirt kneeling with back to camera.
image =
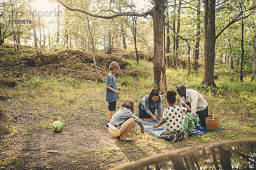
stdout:
<svg viewBox="0 0 256 170">
<path fill-rule="evenodd" d="M 159 127 L 163 125 L 164 122 L 167 122 L 166 128 L 160 133 L 160 137 L 172 138 L 172 142 L 175 142 L 178 138 L 182 138 L 182 115 L 191 112 L 191 109 L 185 102 L 182 102 L 182 105 L 185 107 L 175 105 L 176 95 L 177 93 L 175 91 L 166 91 L 165 98 L 169 107 L 163 111 L 161 122 L 154 125 L 154 127 Z"/>
</svg>

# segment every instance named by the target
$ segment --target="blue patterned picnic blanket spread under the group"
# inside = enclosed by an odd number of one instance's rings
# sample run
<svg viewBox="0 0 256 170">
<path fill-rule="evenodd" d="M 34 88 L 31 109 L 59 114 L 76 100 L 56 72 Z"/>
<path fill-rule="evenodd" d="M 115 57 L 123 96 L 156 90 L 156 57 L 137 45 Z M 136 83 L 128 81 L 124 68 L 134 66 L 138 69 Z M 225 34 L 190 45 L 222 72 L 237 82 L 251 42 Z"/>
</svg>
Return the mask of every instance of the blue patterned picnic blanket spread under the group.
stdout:
<svg viewBox="0 0 256 170">
<path fill-rule="evenodd" d="M 155 124 L 158 124 L 160 122 L 159 121 L 145 121 L 143 122 L 143 125 L 144 125 L 144 128 L 145 128 L 145 133 L 148 133 L 154 137 L 158 137 L 159 138 L 159 135 L 161 133 L 161 131 L 166 127 L 166 122 L 160 126 L 160 127 L 157 127 L 157 128 L 154 128 L 153 126 Z M 140 127 L 137 123 L 136 123 L 136 126 L 137 127 Z M 218 130 L 224 130 L 223 128 L 221 127 L 218 127 Z M 201 135 L 203 133 L 207 133 L 208 131 L 212 132 L 212 130 L 207 130 L 206 128 L 203 128 L 200 126 L 200 129 L 199 130 L 196 130 L 195 127 L 194 129 L 191 131 L 191 135 L 192 136 L 198 136 L 198 135 Z M 166 139 L 168 141 L 172 140 L 172 138 L 168 138 Z"/>
</svg>

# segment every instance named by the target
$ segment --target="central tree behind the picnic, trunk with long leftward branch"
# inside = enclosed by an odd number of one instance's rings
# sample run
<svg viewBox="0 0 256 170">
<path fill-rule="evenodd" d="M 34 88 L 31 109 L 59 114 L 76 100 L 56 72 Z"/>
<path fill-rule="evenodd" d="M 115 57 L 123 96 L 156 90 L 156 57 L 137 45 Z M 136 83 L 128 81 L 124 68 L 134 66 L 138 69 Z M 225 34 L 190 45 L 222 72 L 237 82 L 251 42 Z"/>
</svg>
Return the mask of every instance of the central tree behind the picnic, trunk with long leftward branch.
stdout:
<svg viewBox="0 0 256 170">
<path fill-rule="evenodd" d="M 98 14 L 92 14 L 81 9 L 70 8 L 66 6 L 61 0 L 57 0 L 61 5 L 70 11 L 79 11 L 81 13 L 90 15 L 92 17 L 99 17 L 105 19 L 112 19 L 119 16 L 136 16 L 143 17 L 150 14 L 153 19 L 154 29 L 154 86 L 157 90 L 166 91 L 166 68 L 165 68 L 165 45 L 164 45 L 164 20 L 165 20 L 165 2 L 164 0 L 154 0 L 154 7 L 142 14 L 131 13 L 131 12 L 114 12 L 112 16 L 103 16 Z"/>
</svg>

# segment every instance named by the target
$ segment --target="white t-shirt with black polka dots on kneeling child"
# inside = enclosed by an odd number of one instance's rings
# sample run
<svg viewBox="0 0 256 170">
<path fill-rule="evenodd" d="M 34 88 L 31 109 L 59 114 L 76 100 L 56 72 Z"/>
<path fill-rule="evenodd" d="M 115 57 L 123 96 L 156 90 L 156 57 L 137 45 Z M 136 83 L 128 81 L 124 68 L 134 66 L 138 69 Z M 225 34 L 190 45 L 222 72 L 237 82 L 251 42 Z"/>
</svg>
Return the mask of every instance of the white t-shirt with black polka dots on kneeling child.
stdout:
<svg viewBox="0 0 256 170">
<path fill-rule="evenodd" d="M 182 128 L 182 114 L 186 113 L 183 106 L 168 107 L 163 111 L 163 119 L 166 119 L 166 130 L 180 130 Z"/>
</svg>

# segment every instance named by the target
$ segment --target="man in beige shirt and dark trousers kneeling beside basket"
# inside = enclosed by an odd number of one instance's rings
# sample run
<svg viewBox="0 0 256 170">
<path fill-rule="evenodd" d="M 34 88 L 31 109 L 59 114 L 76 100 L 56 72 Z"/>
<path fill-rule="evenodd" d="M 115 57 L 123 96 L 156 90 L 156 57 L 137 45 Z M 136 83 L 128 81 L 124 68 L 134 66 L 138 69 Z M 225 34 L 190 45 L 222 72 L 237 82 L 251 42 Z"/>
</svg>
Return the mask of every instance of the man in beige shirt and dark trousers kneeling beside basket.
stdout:
<svg viewBox="0 0 256 170">
<path fill-rule="evenodd" d="M 198 114 L 202 127 L 206 127 L 205 119 L 208 117 L 208 103 L 198 91 L 186 88 L 185 85 L 177 86 L 180 102 L 190 102 L 191 112 Z"/>
</svg>

